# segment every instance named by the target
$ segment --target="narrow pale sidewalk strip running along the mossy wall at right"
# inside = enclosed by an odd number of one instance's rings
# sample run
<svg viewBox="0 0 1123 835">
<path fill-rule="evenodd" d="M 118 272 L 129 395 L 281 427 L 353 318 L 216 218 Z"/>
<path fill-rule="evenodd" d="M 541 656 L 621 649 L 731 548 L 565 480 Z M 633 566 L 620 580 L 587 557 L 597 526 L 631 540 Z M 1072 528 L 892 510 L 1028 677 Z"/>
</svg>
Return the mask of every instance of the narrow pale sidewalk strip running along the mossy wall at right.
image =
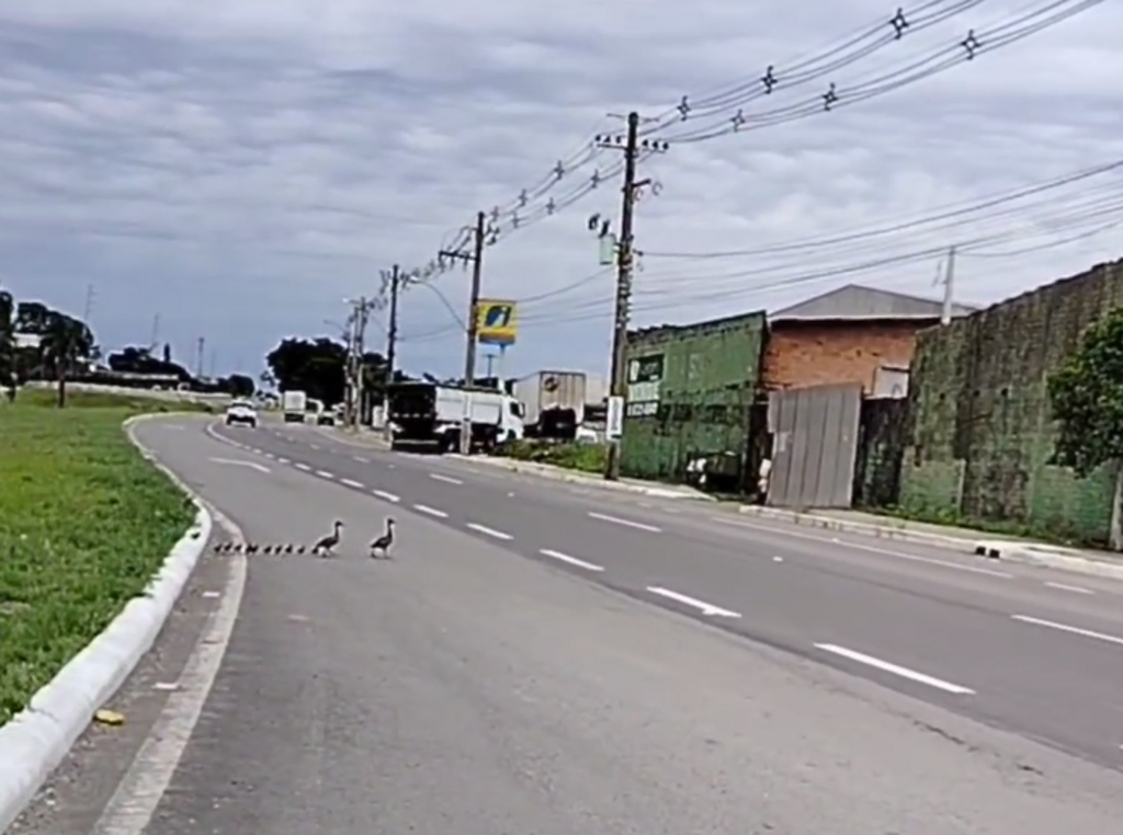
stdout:
<svg viewBox="0 0 1123 835">
<path fill-rule="evenodd" d="M 1123 579 L 1123 554 L 1051 545 L 967 527 L 909 522 L 860 511 L 796 512 L 759 505 L 739 505 L 737 512 L 805 527 L 949 548 L 988 560 L 1007 560 L 1044 568 Z"/>
</svg>

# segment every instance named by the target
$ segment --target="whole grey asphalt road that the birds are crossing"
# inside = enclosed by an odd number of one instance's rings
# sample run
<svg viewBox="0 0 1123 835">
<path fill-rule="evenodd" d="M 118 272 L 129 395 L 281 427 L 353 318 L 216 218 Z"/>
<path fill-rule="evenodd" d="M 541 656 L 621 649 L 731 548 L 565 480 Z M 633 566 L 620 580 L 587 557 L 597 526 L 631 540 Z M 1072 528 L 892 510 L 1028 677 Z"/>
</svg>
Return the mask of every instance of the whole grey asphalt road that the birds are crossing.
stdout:
<svg viewBox="0 0 1123 835">
<path fill-rule="evenodd" d="M 90 789 L 121 770 L 93 738 L 20 835 L 1117 829 L 1105 670 L 1123 648 L 1011 617 L 1112 628 L 1111 586 L 1063 593 L 310 429 L 219 430 L 253 452 L 204 426 L 138 434 L 252 541 L 307 543 L 340 519 L 344 544 L 248 559 L 198 723 L 168 732 L 182 755 L 154 760 L 174 768 L 166 791 Z M 394 559 L 373 561 L 387 514 Z M 988 710 L 1019 733 L 969 718 Z M 1048 728 L 1053 745 L 1026 738 Z M 124 809 L 112 825 L 107 802 Z"/>
</svg>

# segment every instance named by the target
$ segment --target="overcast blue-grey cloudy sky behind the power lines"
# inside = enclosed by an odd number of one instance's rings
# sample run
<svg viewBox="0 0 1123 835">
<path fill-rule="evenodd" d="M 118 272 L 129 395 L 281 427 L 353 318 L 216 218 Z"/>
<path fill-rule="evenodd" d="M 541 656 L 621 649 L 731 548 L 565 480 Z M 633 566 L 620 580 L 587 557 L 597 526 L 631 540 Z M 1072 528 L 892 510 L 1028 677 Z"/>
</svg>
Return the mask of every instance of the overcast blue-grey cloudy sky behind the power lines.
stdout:
<svg viewBox="0 0 1123 835">
<path fill-rule="evenodd" d="M 107 347 L 147 342 L 158 314 L 188 365 L 203 337 L 208 369 L 256 374 L 281 338 L 331 332 L 345 296 L 499 207 L 484 293 L 526 300 L 505 370 L 603 374 L 613 283 L 586 224 L 615 219 L 621 155 L 591 139 L 622 131 L 606 113 L 687 95 L 685 121 L 647 123 L 672 144 L 640 165 L 659 187 L 636 219 L 638 324 L 848 282 L 938 296 L 956 244 L 958 300 L 994 302 L 1123 254 L 1119 172 L 911 223 L 1123 158 L 1123 7 L 996 40 L 1050 4 L 1088 3 L 917 1 L 900 40 L 847 46 L 892 34 L 896 2 L 0 0 L 0 284 L 79 315 L 92 287 Z M 959 54 L 973 28 L 974 61 L 877 82 Z M 832 81 L 840 103 L 878 94 L 823 112 Z M 449 308 L 467 293 L 454 270 L 403 294 L 408 368 L 463 367 Z"/>
</svg>

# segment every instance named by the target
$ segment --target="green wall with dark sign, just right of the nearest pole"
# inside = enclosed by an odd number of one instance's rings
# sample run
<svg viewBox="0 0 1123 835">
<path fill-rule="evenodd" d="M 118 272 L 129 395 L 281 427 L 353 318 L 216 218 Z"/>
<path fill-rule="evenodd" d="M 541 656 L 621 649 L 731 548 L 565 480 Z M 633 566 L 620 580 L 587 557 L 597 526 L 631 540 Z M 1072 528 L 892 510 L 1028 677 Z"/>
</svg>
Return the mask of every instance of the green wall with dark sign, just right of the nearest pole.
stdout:
<svg viewBox="0 0 1123 835">
<path fill-rule="evenodd" d="M 629 393 L 621 441 L 623 475 L 678 480 L 692 457 L 745 455 L 764 331 L 760 311 L 629 334 L 629 369 L 639 364 L 641 371 L 648 371 L 645 377 L 661 373 L 657 400 L 648 400 L 649 406 L 631 402 L 631 393 L 649 398 L 656 388 L 650 382 L 632 386 Z"/>
</svg>

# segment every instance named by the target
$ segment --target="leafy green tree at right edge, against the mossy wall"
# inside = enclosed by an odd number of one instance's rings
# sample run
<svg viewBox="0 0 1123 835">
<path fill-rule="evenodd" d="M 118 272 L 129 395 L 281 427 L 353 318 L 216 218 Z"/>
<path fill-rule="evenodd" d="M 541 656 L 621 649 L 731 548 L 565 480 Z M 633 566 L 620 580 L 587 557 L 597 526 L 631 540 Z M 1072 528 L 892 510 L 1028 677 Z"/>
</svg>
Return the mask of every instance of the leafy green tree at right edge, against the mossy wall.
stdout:
<svg viewBox="0 0 1123 835">
<path fill-rule="evenodd" d="M 1085 331 L 1048 379 L 1058 433 L 1053 459 L 1077 476 L 1123 460 L 1123 309 Z"/>
</svg>

